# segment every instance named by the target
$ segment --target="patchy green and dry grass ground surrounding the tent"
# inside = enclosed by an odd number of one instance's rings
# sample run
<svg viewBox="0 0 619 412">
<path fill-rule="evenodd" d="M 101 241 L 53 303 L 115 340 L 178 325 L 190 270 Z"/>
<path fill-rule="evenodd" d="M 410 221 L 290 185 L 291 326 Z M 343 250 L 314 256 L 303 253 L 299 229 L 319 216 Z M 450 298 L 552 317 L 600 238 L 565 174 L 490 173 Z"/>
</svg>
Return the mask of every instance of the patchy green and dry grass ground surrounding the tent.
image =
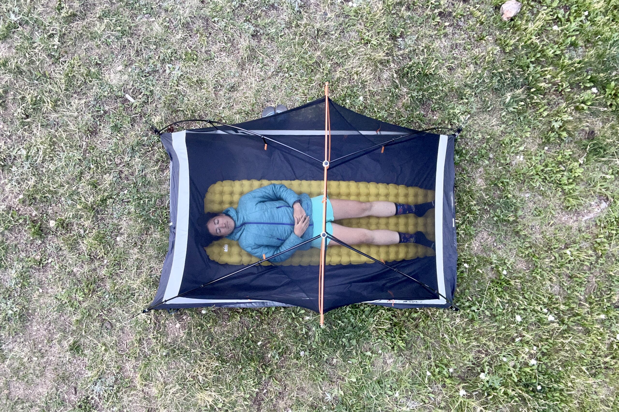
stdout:
<svg viewBox="0 0 619 412">
<path fill-rule="evenodd" d="M 0 409 L 619 410 L 619 2 L 500 4 L 2 0 Z M 326 81 L 367 116 L 465 126 L 462 310 L 139 314 L 168 247 L 150 124 Z"/>
</svg>

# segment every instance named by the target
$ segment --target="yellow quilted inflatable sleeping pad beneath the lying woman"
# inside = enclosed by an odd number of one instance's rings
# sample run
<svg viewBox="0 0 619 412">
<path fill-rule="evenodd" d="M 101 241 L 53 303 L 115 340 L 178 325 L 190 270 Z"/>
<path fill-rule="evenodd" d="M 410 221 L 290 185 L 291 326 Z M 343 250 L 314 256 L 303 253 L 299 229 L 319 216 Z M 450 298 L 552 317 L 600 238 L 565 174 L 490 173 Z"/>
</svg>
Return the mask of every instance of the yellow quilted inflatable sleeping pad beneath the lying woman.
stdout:
<svg viewBox="0 0 619 412">
<path fill-rule="evenodd" d="M 225 180 L 210 185 L 204 196 L 204 212 L 222 212 L 228 207 L 237 207 L 240 197 L 248 192 L 264 187 L 272 183 L 284 184 L 297 194 L 306 193 L 309 197 L 322 194 L 323 182 L 307 180 Z M 371 202 L 373 200 L 387 200 L 389 202 L 416 205 L 434 200 L 434 191 L 420 189 L 397 184 L 354 182 L 354 181 L 329 181 L 327 186 L 329 197 L 333 199 L 360 200 Z M 423 217 L 415 215 L 399 215 L 391 217 L 365 217 L 344 219 L 336 221 L 340 225 L 351 228 L 365 228 L 370 230 L 389 229 L 404 233 L 422 231 L 428 239 L 435 240 L 434 210 L 431 209 Z M 359 249 L 376 259 L 384 262 L 394 260 L 409 260 L 417 257 L 433 256 L 435 253 L 429 247 L 412 243 L 399 243 L 388 246 L 375 246 L 369 244 L 357 245 Z M 238 242 L 229 239 L 220 239 L 212 242 L 204 248 L 209 259 L 220 264 L 249 265 L 258 262 L 258 258 L 243 251 Z M 313 247 L 308 251 L 297 251 L 290 259 L 279 265 L 318 265 L 320 251 Z M 371 263 L 357 252 L 346 247 L 339 246 L 331 241 L 327 247 L 327 265 L 350 265 Z M 264 263 L 268 264 L 268 263 Z"/>
</svg>

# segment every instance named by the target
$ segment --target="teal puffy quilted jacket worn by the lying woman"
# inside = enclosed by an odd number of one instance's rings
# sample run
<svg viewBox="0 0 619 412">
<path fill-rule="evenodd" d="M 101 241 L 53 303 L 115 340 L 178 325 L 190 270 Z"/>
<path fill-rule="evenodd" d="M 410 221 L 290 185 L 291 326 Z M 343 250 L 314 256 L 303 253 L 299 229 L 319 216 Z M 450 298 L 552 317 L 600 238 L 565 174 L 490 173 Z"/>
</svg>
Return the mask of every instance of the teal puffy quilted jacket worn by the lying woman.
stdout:
<svg viewBox="0 0 619 412">
<path fill-rule="evenodd" d="M 309 226 L 300 238 L 295 234 L 292 208 L 297 201 L 310 217 Z M 235 223 L 235 229 L 226 238 L 238 241 L 244 251 L 260 259 L 262 255 L 269 257 L 311 239 L 314 227 L 311 212 L 309 195 L 298 195 L 283 184 L 269 184 L 241 196 L 236 209 L 228 207 L 223 211 Z M 310 247 L 309 243 L 305 244 L 269 261 L 283 262 L 294 252 Z"/>
</svg>

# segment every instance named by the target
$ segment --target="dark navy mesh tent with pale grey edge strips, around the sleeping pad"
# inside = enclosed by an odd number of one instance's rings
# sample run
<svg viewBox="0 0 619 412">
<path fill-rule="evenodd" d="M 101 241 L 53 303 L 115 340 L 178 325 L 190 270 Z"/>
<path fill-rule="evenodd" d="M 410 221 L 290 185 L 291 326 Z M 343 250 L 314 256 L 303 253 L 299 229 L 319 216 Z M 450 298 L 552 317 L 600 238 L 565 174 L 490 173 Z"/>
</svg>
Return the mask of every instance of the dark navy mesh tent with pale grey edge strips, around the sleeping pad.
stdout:
<svg viewBox="0 0 619 412">
<path fill-rule="evenodd" d="M 403 185 L 434 191 L 436 251 L 394 260 L 442 296 L 456 287 L 454 135 L 417 133 L 368 118 L 329 101 L 329 181 Z M 234 126 L 269 137 L 217 126 L 162 134 L 170 155 L 170 246 L 152 309 L 180 307 L 301 306 L 318 311 L 318 261 L 298 264 L 222 264 L 201 243 L 198 221 L 209 187 L 235 181 L 322 181 L 325 100 Z M 287 145 L 288 147 L 285 147 Z M 378 147 L 365 150 L 372 146 Z M 299 152 L 293 150 L 297 149 Z M 355 155 L 334 161 L 350 153 Z M 214 186 L 213 186 L 214 187 Z M 402 186 L 397 186 L 402 187 Z M 320 224 L 320 222 L 316 222 Z M 327 249 L 335 246 L 332 241 Z M 227 250 L 228 245 L 225 245 Z M 382 259 L 382 258 L 381 258 Z M 241 270 L 245 269 L 245 270 Z M 210 281 L 222 280 L 201 287 Z M 183 296 L 178 296 L 182 294 Z M 331 264 L 324 275 L 324 312 L 353 303 L 389 307 L 449 307 L 442 296 L 379 263 Z"/>
</svg>

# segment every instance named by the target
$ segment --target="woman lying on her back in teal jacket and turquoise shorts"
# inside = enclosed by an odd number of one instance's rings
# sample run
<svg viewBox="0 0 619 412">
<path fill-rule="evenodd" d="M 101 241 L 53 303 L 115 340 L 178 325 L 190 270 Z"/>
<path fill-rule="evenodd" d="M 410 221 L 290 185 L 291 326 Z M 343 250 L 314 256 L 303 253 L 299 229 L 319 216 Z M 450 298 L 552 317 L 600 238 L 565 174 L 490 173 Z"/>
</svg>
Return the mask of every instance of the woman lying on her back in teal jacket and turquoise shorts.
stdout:
<svg viewBox="0 0 619 412">
<path fill-rule="evenodd" d="M 334 220 L 366 216 L 389 217 L 414 213 L 422 217 L 434 207 L 434 202 L 405 205 L 378 200 L 328 199 L 326 231 L 350 245 L 417 243 L 434 249 L 434 242 L 423 232 L 400 233 L 392 230 L 368 230 L 348 228 L 332 223 Z M 207 213 L 206 244 L 225 236 L 238 241 L 239 246 L 256 257 L 272 256 L 322 232 L 322 195 L 310 198 L 308 194 L 296 194 L 283 184 L 269 184 L 241 196 L 238 207 L 228 207 L 223 213 Z M 331 239 L 327 238 L 327 244 Z M 320 247 L 321 239 L 315 239 L 281 254 L 271 262 L 283 262 L 297 249 Z"/>
</svg>

